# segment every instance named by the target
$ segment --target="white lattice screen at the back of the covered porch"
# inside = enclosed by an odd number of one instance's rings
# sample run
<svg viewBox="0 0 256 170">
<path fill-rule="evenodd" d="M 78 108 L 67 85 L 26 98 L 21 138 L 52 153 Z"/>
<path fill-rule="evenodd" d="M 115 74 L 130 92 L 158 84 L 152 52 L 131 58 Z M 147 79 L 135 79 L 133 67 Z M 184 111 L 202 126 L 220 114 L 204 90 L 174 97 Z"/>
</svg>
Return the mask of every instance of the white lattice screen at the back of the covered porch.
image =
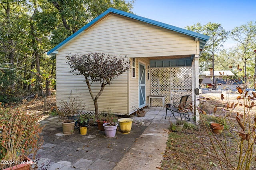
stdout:
<svg viewBox="0 0 256 170">
<path fill-rule="evenodd" d="M 191 67 L 151 68 L 151 95 L 165 95 L 165 103 L 172 104 L 191 94 Z M 151 105 L 162 107 L 162 100 L 152 99 Z"/>
</svg>

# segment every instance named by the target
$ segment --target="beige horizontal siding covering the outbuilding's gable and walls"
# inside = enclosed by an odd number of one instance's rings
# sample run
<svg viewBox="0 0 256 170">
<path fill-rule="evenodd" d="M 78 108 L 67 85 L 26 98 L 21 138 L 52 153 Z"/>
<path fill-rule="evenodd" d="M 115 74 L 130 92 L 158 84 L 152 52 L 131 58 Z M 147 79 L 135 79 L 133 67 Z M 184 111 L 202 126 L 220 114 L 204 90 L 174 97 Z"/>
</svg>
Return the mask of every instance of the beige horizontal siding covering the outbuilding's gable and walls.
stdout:
<svg viewBox="0 0 256 170">
<path fill-rule="evenodd" d="M 94 52 L 136 58 L 136 78 L 131 77 L 131 71 L 122 74 L 110 86 L 105 87 L 98 99 L 101 111 L 111 108 L 115 113 L 128 114 L 132 112 L 132 106 L 138 106 L 138 58 L 145 63 L 147 74 L 147 64 L 149 64 L 147 57 L 194 55 L 198 50 L 193 37 L 118 14 L 110 14 L 58 50 L 57 104 L 61 100 L 67 100 L 72 90 L 71 98 L 80 96 L 86 106 L 94 111 L 94 104 L 84 77 L 68 73 L 70 68 L 66 63 L 66 55 Z M 94 95 L 98 94 L 99 90 L 100 84 L 94 83 L 92 87 Z M 150 95 L 150 84 L 146 79 L 146 104 L 148 104 L 148 95 Z"/>
</svg>

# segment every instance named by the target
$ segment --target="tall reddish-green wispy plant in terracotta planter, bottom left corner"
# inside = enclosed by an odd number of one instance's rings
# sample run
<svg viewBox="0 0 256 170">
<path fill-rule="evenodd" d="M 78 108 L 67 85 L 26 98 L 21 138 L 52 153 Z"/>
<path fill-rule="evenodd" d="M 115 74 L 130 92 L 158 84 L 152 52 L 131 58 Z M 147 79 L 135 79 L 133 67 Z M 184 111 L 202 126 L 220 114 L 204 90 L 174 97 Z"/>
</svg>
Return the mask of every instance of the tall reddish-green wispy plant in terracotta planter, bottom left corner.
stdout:
<svg viewBox="0 0 256 170">
<path fill-rule="evenodd" d="M 23 108 L 23 106 L 22 106 Z M 0 107 L 0 169 L 29 170 L 42 146 L 40 115 Z M 28 155 L 33 156 L 31 160 Z M 20 164 L 19 164 L 20 163 Z"/>
</svg>

